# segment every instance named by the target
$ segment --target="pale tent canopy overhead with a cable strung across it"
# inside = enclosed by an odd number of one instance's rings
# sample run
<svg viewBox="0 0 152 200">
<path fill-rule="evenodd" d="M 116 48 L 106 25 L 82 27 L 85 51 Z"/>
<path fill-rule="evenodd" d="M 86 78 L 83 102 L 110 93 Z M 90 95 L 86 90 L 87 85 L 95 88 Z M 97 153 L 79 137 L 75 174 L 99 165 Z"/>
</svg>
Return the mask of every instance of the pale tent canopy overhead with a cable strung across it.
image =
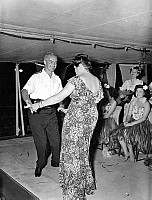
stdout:
<svg viewBox="0 0 152 200">
<path fill-rule="evenodd" d="M 152 63 L 151 0 L 1 0 L 0 61 Z"/>
</svg>

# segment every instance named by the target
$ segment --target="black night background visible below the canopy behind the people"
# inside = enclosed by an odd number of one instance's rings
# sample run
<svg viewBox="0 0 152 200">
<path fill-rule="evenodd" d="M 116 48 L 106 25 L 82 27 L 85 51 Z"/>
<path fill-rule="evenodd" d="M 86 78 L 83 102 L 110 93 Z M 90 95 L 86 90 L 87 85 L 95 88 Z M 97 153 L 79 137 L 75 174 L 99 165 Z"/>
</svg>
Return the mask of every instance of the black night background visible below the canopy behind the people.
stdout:
<svg viewBox="0 0 152 200">
<path fill-rule="evenodd" d="M 93 65 L 93 73 L 98 76 L 101 80 L 101 71 L 103 69 L 104 64 L 92 63 Z M 67 67 L 68 66 L 68 67 Z M 5 137 L 15 137 L 16 136 L 16 83 L 15 83 L 15 63 L 0 63 L 0 138 Z M 20 76 L 20 88 L 22 89 L 29 77 L 36 73 L 37 71 L 41 71 L 42 67 L 37 66 L 33 63 L 20 64 L 19 69 L 22 69 L 23 72 L 19 73 Z M 117 65 L 117 70 L 119 72 L 119 65 Z M 67 80 L 75 75 L 74 68 L 72 65 L 58 63 L 56 74 L 60 76 L 63 86 L 67 83 Z M 118 73 L 119 74 L 119 73 Z M 147 67 L 148 74 L 148 84 L 152 81 L 152 65 L 148 65 Z M 104 75 L 104 82 L 106 82 L 106 76 Z M 121 80 L 121 77 L 117 77 L 117 80 Z M 119 84 L 116 82 L 116 84 Z M 70 99 L 65 99 L 65 106 L 67 107 L 70 102 Z M 24 106 L 24 102 L 22 101 L 22 106 Z M 63 114 L 58 113 L 59 124 L 62 125 Z M 31 134 L 28 117 L 27 117 L 27 109 L 23 108 L 23 118 L 24 118 L 24 126 L 26 135 Z M 19 108 L 19 136 L 22 136 L 21 133 L 21 121 L 20 121 L 20 108 Z"/>
</svg>

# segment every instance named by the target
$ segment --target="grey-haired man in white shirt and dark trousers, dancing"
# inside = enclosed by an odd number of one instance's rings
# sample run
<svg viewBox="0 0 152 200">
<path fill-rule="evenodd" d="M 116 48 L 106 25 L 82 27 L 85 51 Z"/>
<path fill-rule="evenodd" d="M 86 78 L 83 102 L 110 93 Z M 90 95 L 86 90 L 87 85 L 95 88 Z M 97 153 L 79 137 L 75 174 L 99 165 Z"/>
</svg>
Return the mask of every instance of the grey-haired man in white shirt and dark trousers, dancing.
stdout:
<svg viewBox="0 0 152 200">
<path fill-rule="evenodd" d="M 48 53 L 44 57 L 44 69 L 33 74 L 22 89 L 22 97 L 27 105 L 45 100 L 62 90 L 61 79 L 54 73 L 57 67 L 57 56 Z M 51 166 L 59 166 L 60 135 L 56 106 L 28 111 L 29 123 L 37 151 L 35 177 L 40 177 L 47 159 L 52 153 Z"/>
</svg>

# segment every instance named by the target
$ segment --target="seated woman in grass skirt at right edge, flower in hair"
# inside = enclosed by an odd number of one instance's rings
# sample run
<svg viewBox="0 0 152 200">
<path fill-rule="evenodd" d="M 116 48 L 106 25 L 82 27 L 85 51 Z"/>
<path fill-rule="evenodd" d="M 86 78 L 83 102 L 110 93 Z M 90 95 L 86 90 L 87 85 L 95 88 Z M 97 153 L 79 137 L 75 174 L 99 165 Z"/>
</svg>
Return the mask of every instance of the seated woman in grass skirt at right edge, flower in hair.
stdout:
<svg viewBox="0 0 152 200">
<path fill-rule="evenodd" d="M 146 85 L 136 85 L 135 97 L 130 103 L 126 121 L 113 130 L 110 135 L 113 148 L 114 141 L 119 140 L 125 160 L 130 158 L 131 161 L 135 161 L 139 151 L 144 154 L 150 153 L 151 123 L 148 119 L 150 104 L 146 98 L 147 89 Z M 136 151 L 134 151 L 135 149 Z"/>
</svg>

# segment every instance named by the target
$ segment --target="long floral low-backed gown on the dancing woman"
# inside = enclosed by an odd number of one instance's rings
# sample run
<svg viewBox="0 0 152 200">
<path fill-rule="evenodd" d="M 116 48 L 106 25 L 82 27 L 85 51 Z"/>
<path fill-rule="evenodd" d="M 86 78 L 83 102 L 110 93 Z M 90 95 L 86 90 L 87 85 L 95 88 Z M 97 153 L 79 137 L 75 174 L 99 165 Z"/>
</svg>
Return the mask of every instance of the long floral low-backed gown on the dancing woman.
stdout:
<svg viewBox="0 0 152 200">
<path fill-rule="evenodd" d="M 89 165 L 89 145 L 98 119 L 96 103 L 103 98 L 103 91 L 100 83 L 99 91 L 92 93 L 78 76 L 69 82 L 75 89 L 62 128 L 59 181 L 63 199 L 78 200 L 96 189 Z"/>
</svg>

